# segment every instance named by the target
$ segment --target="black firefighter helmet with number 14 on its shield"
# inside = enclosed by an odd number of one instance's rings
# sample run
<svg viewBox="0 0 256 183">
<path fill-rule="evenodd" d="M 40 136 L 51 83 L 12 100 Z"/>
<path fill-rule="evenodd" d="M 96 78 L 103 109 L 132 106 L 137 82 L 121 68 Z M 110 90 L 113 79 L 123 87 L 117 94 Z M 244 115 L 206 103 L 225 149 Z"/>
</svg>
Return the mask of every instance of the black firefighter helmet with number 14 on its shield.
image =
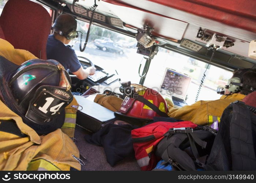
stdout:
<svg viewBox="0 0 256 183">
<path fill-rule="evenodd" d="M 21 66 L 0 57 L 3 102 L 39 135 L 62 127 L 73 100 L 70 76 L 55 60 L 33 59 Z"/>
</svg>

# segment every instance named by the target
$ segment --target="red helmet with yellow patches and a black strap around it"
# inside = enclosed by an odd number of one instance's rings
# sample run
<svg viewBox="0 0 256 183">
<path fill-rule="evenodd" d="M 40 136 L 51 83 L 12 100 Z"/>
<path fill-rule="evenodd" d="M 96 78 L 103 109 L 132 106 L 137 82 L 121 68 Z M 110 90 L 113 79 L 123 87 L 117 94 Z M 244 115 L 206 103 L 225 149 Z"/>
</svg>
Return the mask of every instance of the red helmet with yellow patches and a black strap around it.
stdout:
<svg viewBox="0 0 256 183">
<path fill-rule="evenodd" d="M 144 121 L 151 121 L 155 116 L 168 117 L 167 103 L 156 90 L 146 88 L 137 91 L 137 94 L 133 98 L 126 96 L 116 114 Z"/>
</svg>

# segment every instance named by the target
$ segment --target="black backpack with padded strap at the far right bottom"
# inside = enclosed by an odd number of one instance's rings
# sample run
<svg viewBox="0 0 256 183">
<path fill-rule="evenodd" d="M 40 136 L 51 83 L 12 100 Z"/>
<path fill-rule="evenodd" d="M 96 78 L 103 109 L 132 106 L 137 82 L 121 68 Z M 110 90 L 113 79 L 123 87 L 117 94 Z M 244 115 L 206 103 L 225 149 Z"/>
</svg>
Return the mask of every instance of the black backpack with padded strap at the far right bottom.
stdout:
<svg viewBox="0 0 256 183">
<path fill-rule="evenodd" d="M 256 108 L 235 101 L 223 112 L 207 170 L 256 170 Z"/>
</svg>

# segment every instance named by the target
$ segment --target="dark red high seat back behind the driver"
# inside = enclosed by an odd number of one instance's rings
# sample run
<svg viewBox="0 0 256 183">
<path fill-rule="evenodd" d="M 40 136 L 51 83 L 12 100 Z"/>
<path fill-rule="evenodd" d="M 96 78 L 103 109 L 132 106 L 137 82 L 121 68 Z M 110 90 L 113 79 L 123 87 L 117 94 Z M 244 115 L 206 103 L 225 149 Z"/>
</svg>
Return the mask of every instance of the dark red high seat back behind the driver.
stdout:
<svg viewBox="0 0 256 183">
<path fill-rule="evenodd" d="M 0 16 L 5 40 L 16 49 L 25 49 L 47 59 L 46 44 L 52 19 L 40 4 L 29 0 L 8 0 Z"/>
</svg>

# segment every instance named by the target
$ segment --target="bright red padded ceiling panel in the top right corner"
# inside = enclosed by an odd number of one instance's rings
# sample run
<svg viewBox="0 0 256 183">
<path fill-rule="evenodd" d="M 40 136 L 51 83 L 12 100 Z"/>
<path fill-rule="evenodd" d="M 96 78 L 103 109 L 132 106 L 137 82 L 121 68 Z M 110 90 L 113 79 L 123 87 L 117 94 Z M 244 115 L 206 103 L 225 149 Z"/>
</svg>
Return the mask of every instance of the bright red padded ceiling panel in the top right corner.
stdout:
<svg viewBox="0 0 256 183">
<path fill-rule="evenodd" d="M 226 25 L 256 32 L 255 0 L 148 0 Z"/>
</svg>

